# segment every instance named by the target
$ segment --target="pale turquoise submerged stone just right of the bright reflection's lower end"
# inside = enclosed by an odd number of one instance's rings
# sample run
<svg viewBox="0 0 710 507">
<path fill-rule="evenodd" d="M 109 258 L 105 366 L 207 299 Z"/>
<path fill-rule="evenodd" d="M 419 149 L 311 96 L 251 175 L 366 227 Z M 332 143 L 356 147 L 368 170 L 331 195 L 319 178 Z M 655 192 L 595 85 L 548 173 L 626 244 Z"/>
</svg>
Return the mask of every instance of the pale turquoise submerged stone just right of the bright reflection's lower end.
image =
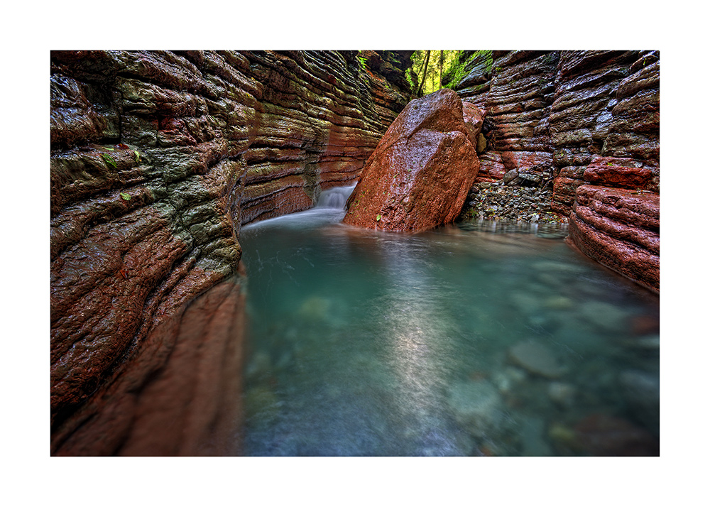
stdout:
<svg viewBox="0 0 710 507">
<path fill-rule="evenodd" d="M 488 436 L 503 421 L 503 398 L 488 381 L 459 381 L 449 391 L 454 418 L 471 435 Z"/>
</svg>

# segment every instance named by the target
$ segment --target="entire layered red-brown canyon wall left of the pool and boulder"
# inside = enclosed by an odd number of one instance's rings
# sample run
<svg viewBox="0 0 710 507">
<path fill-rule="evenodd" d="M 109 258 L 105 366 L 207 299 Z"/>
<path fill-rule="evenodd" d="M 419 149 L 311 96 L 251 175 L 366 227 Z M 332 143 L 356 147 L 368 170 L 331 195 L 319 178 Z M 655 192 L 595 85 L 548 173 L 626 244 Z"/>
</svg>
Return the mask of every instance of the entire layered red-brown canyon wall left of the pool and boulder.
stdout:
<svg viewBox="0 0 710 507">
<path fill-rule="evenodd" d="M 239 228 L 357 178 L 408 90 L 335 51 L 60 51 L 50 90 L 53 454 L 236 452 Z"/>
</svg>

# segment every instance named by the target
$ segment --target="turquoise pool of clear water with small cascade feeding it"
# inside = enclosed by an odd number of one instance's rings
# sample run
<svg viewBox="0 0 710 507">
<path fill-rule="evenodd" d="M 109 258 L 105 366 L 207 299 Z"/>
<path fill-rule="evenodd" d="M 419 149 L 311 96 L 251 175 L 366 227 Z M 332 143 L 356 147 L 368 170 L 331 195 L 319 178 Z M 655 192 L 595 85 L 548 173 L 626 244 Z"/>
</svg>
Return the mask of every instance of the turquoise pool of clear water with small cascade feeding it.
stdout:
<svg viewBox="0 0 710 507">
<path fill-rule="evenodd" d="M 656 295 L 564 226 L 346 226 L 351 190 L 242 229 L 245 454 L 657 453 Z"/>
</svg>

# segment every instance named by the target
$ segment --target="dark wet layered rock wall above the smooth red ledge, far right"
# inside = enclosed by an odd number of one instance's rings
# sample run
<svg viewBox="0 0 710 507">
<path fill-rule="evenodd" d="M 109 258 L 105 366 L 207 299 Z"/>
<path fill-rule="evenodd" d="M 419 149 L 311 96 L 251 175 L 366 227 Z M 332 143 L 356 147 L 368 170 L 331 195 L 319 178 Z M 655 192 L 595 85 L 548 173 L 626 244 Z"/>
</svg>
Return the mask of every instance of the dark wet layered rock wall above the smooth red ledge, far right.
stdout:
<svg viewBox="0 0 710 507">
<path fill-rule="evenodd" d="M 657 60 L 657 53 L 640 51 L 561 53 L 550 115 L 559 213 L 569 214 L 587 167 L 599 157 L 638 160 L 654 176 L 643 188 L 658 192 Z M 641 71 L 644 61 L 651 68 Z"/>
</svg>

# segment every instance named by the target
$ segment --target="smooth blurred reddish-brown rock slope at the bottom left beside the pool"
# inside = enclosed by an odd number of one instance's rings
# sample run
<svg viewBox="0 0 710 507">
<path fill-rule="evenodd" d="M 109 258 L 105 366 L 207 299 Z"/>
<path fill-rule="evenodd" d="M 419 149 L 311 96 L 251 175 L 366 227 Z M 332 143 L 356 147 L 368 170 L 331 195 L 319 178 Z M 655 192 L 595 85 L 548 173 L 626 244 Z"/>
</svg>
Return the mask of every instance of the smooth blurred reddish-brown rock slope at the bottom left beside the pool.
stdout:
<svg viewBox="0 0 710 507">
<path fill-rule="evenodd" d="M 191 278 L 198 280 L 200 273 Z M 192 288 L 189 280 L 182 285 Z M 195 300 L 158 313 L 111 381 L 55 428 L 53 455 L 239 454 L 234 439 L 241 424 L 239 280 L 224 280 Z"/>
</svg>

